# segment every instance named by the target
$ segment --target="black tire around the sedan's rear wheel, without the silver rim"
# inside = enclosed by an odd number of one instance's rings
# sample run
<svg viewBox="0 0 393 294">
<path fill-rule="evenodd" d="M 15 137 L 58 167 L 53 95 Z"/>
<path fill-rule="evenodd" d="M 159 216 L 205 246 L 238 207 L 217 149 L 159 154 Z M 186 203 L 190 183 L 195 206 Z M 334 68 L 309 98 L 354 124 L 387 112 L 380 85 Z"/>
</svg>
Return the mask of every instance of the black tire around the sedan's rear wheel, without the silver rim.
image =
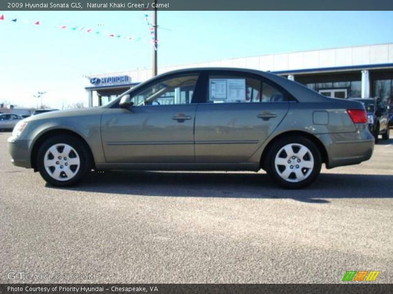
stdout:
<svg viewBox="0 0 393 294">
<path fill-rule="evenodd" d="M 314 158 L 314 167 L 309 175 L 305 180 L 297 183 L 293 182 L 287 182 L 284 179 L 281 178 L 281 176 L 277 173 L 276 167 L 275 167 L 275 158 L 277 155 L 277 152 L 284 147 L 287 144 L 302 144 L 309 148 L 309 150 L 312 153 L 312 156 Z M 318 150 L 318 148 L 315 146 L 315 144 L 304 137 L 287 137 L 287 138 L 281 138 L 277 142 L 274 142 L 272 147 L 269 149 L 269 152 L 267 153 L 267 173 L 269 176 L 280 186 L 288 189 L 301 189 L 309 186 L 319 175 L 321 171 L 321 166 L 322 166 L 322 159 L 321 159 L 321 154 Z"/>
</svg>

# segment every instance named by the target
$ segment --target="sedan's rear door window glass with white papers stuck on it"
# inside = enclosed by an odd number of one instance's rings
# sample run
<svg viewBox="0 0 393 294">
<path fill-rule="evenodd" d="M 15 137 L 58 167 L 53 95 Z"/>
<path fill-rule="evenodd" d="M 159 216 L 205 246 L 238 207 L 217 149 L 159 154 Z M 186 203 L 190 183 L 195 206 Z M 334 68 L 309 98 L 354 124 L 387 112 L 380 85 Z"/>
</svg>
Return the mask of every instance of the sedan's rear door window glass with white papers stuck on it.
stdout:
<svg viewBox="0 0 393 294">
<path fill-rule="evenodd" d="M 207 102 L 259 102 L 260 86 L 260 80 L 255 78 L 232 75 L 210 75 Z"/>
</svg>

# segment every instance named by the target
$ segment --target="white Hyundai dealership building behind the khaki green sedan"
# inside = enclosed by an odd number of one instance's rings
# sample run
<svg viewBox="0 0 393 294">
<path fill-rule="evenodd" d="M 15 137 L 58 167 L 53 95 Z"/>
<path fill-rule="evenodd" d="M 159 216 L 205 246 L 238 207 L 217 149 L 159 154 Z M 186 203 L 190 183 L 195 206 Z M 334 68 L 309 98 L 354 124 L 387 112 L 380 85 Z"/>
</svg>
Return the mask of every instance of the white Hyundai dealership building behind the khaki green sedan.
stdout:
<svg viewBox="0 0 393 294">
<path fill-rule="evenodd" d="M 270 71 L 336 98 L 382 98 L 393 103 L 393 43 L 163 66 L 158 73 L 200 67 Z M 152 76 L 151 69 L 89 76 L 89 106 L 104 105 Z"/>
</svg>

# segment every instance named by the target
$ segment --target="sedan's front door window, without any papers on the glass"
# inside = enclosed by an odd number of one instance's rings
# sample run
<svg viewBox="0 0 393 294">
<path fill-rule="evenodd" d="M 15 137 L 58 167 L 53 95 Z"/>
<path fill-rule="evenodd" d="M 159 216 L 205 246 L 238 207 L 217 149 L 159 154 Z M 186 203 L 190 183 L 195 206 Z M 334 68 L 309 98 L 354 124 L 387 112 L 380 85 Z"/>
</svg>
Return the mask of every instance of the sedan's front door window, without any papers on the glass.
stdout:
<svg viewBox="0 0 393 294">
<path fill-rule="evenodd" d="M 190 104 L 198 74 L 183 75 L 163 80 L 132 97 L 134 106 Z"/>
</svg>

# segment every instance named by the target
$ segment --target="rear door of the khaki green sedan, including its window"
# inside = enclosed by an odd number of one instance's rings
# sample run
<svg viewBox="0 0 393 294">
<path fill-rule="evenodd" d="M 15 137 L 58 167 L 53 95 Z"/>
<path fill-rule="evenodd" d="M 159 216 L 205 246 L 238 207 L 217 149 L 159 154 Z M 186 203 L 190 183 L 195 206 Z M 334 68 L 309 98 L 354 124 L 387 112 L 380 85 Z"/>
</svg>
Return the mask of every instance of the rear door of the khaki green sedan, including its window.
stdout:
<svg viewBox="0 0 393 294">
<path fill-rule="evenodd" d="M 195 122 L 198 163 L 246 162 L 289 108 L 288 94 L 256 74 L 212 71 L 205 88 Z"/>
</svg>

